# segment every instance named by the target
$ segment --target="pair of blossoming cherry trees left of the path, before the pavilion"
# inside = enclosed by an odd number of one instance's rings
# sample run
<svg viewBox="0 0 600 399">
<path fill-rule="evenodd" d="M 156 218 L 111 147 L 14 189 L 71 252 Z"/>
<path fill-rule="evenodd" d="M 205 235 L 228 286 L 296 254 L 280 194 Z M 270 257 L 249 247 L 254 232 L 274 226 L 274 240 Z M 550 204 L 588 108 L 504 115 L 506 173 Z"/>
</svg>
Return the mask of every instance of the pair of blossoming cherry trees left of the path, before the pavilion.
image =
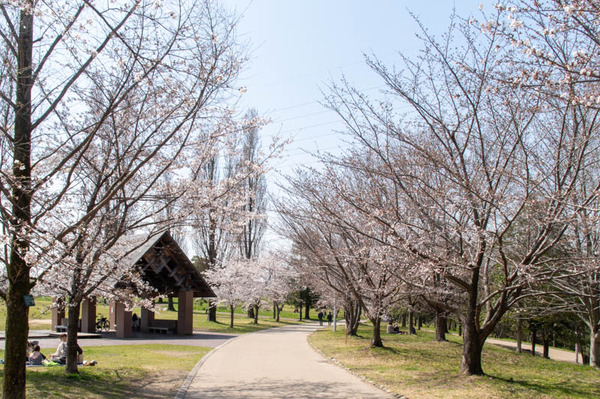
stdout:
<svg viewBox="0 0 600 399">
<path fill-rule="evenodd" d="M 243 187 L 271 154 L 245 153 L 263 122 L 227 106 L 246 53 L 216 2 L 24 0 L 0 11 L 3 397 L 24 398 L 24 296 L 67 304 L 76 372 L 81 301 L 150 305 L 157 294 L 128 255 L 165 229 L 212 228 L 215 215 L 243 230 L 256 219 Z M 217 159 L 238 161 L 215 181 Z M 114 290 L 124 281 L 133 288 Z"/>
</svg>

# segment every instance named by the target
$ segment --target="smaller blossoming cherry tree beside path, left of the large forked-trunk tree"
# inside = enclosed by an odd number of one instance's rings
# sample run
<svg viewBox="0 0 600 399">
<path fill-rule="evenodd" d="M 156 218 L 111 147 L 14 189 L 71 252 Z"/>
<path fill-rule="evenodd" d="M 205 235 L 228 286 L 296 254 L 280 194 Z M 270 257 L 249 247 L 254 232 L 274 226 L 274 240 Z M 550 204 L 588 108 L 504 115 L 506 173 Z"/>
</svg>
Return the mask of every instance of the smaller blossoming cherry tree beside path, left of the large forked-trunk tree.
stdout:
<svg viewBox="0 0 600 399">
<path fill-rule="evenodd" d="M 402 285 L 396 276 L 401 264 L 391 247 L 381 244 L 388 238 L 387 228 L 362 218 L 343 199 L 335 199 L 335 187 L 342 185 L 357 195 L 367 192 L 370 183 L 355 177 L 352 171 L 333 168 L 322 173 L 298 173 L 289 181 L 288 195 L 279 205 L 279 212 L 285 223 L 284 233 L 304 253 L 299 271 L 311 276 L 309 281 L 321 282 L 315 287 L 328 287 L 320 293 L 329 297 L 331 291 L 339 293 L 340 299 L 351 293 L 373 324 L 371 346 L 381 347 L 381 318 L 399 298 Z M 346 219 L 371 229 L 370 234 L 379 242 L 344 226 Z"/>
</svg>

